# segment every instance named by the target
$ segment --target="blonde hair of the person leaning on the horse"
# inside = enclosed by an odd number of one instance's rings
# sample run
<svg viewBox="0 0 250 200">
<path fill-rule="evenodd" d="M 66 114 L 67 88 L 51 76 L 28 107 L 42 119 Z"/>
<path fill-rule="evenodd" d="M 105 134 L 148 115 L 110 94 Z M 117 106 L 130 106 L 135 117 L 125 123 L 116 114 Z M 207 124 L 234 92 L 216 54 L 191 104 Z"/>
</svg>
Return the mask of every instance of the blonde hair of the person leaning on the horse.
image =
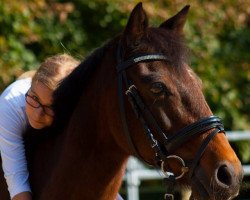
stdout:
<svg viewBox="0 0 250 200">
<path fill-rule="evenodd" d="M 62 79 L 69 75 L 80 62 L 68 54 L 48 57 L 32 78 L 32 84 L 41 82 L 54 91 Z"/>
</svg>

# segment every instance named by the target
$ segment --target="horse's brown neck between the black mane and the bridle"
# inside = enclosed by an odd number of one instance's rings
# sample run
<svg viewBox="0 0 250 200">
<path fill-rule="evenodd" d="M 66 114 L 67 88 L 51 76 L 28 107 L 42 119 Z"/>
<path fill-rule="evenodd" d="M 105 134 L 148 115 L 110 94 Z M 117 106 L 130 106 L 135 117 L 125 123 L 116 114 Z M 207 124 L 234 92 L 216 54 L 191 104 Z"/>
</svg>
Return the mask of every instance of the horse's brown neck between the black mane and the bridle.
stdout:
<svg viewBox="0 0 250 200">
<path fill-rule="evenodd" d="M 112 73 L 104 76 L 105 66 L 98 68 L 71 117 L 65 145 L 42 200 L 110 200 L 118 193 L 128 155 L 112 136 L 117 128 L 116 122 L 110 122 L 111 116 L 118 111 L 112 111 L 112 103 L 107 102 L 105 87 L 115 78 Z"/>
</svg>

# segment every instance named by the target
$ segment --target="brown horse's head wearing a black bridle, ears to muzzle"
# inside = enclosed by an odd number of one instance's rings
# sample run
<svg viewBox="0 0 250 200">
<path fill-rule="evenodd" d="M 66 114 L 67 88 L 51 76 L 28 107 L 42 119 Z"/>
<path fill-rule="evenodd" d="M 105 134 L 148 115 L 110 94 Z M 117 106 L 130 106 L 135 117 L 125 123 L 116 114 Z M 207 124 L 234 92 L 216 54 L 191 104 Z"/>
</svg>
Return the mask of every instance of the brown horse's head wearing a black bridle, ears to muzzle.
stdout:
<svg viewBox="0 0 250 200">
<path fill-rule="evenodd" d="M 148 26 L 141 3 L 130 15 L 117 47 L 118 95 L 129 141 L 123 148 L 172 172 L 177 182 L 191 186 L 195 199 L 229 199 L 239 192 L 242 166 L 188 64 L 188 10 L 158 28 Z"/>
</svg>

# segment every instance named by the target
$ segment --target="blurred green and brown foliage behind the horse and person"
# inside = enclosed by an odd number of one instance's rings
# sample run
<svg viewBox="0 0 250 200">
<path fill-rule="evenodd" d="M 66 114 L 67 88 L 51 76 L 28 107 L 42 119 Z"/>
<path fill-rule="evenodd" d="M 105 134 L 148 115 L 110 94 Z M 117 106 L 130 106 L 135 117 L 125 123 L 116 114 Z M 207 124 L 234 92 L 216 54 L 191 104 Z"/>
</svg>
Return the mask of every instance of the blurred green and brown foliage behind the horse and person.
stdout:
<svg viewBox="0 0 250 200">
<path fill-rule="evenodd" d="M 23 72 L 36 69 L 47 56 L 65 52 L 84 59 L 123 30 L 138 2 L 0 0 L 0 93 Z M 207 101 L 223 119 L 226 130 L 250 130 L 250 2 L 142 2 L 152 26 L 191 5 L 185 36 L 192 53 L 191 66 L 203 81 Z M 250 141 L 232 145 L 242 163 L 249 164 Z M 249 180 L 245 178 L 245 186 Z M 155 187 L 158 183 L 147 184 Z M 162 191 L 159 187 L 155 191 Z M 243 189 L 242 194 L 250 199 L 249 190 Z M 152 198 L 157 196 L 148 199 Z"/>
</svg>

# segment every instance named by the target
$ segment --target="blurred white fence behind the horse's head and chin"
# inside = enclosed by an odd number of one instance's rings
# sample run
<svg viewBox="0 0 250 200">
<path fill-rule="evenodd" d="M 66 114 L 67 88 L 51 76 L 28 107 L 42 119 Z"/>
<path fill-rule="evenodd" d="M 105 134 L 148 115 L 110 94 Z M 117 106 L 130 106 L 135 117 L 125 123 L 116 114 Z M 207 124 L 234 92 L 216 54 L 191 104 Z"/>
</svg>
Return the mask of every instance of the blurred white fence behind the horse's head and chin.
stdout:
<svg viewBox="0 0 250 200">
<path fill-rule="evenodd" d="M 250 131 L 227 131 L 230 142 L 250 140 Z M 243 165 L 244 174 L 250 175 L 250 165 Z M 136 158 L 131 157 L 127 165 L 126 181 L 127 200 L 139 200 L 139 186 L 143 180 L 157 180 L 164 176 L 159 170 L 147 169 Z"/>
</svg>

